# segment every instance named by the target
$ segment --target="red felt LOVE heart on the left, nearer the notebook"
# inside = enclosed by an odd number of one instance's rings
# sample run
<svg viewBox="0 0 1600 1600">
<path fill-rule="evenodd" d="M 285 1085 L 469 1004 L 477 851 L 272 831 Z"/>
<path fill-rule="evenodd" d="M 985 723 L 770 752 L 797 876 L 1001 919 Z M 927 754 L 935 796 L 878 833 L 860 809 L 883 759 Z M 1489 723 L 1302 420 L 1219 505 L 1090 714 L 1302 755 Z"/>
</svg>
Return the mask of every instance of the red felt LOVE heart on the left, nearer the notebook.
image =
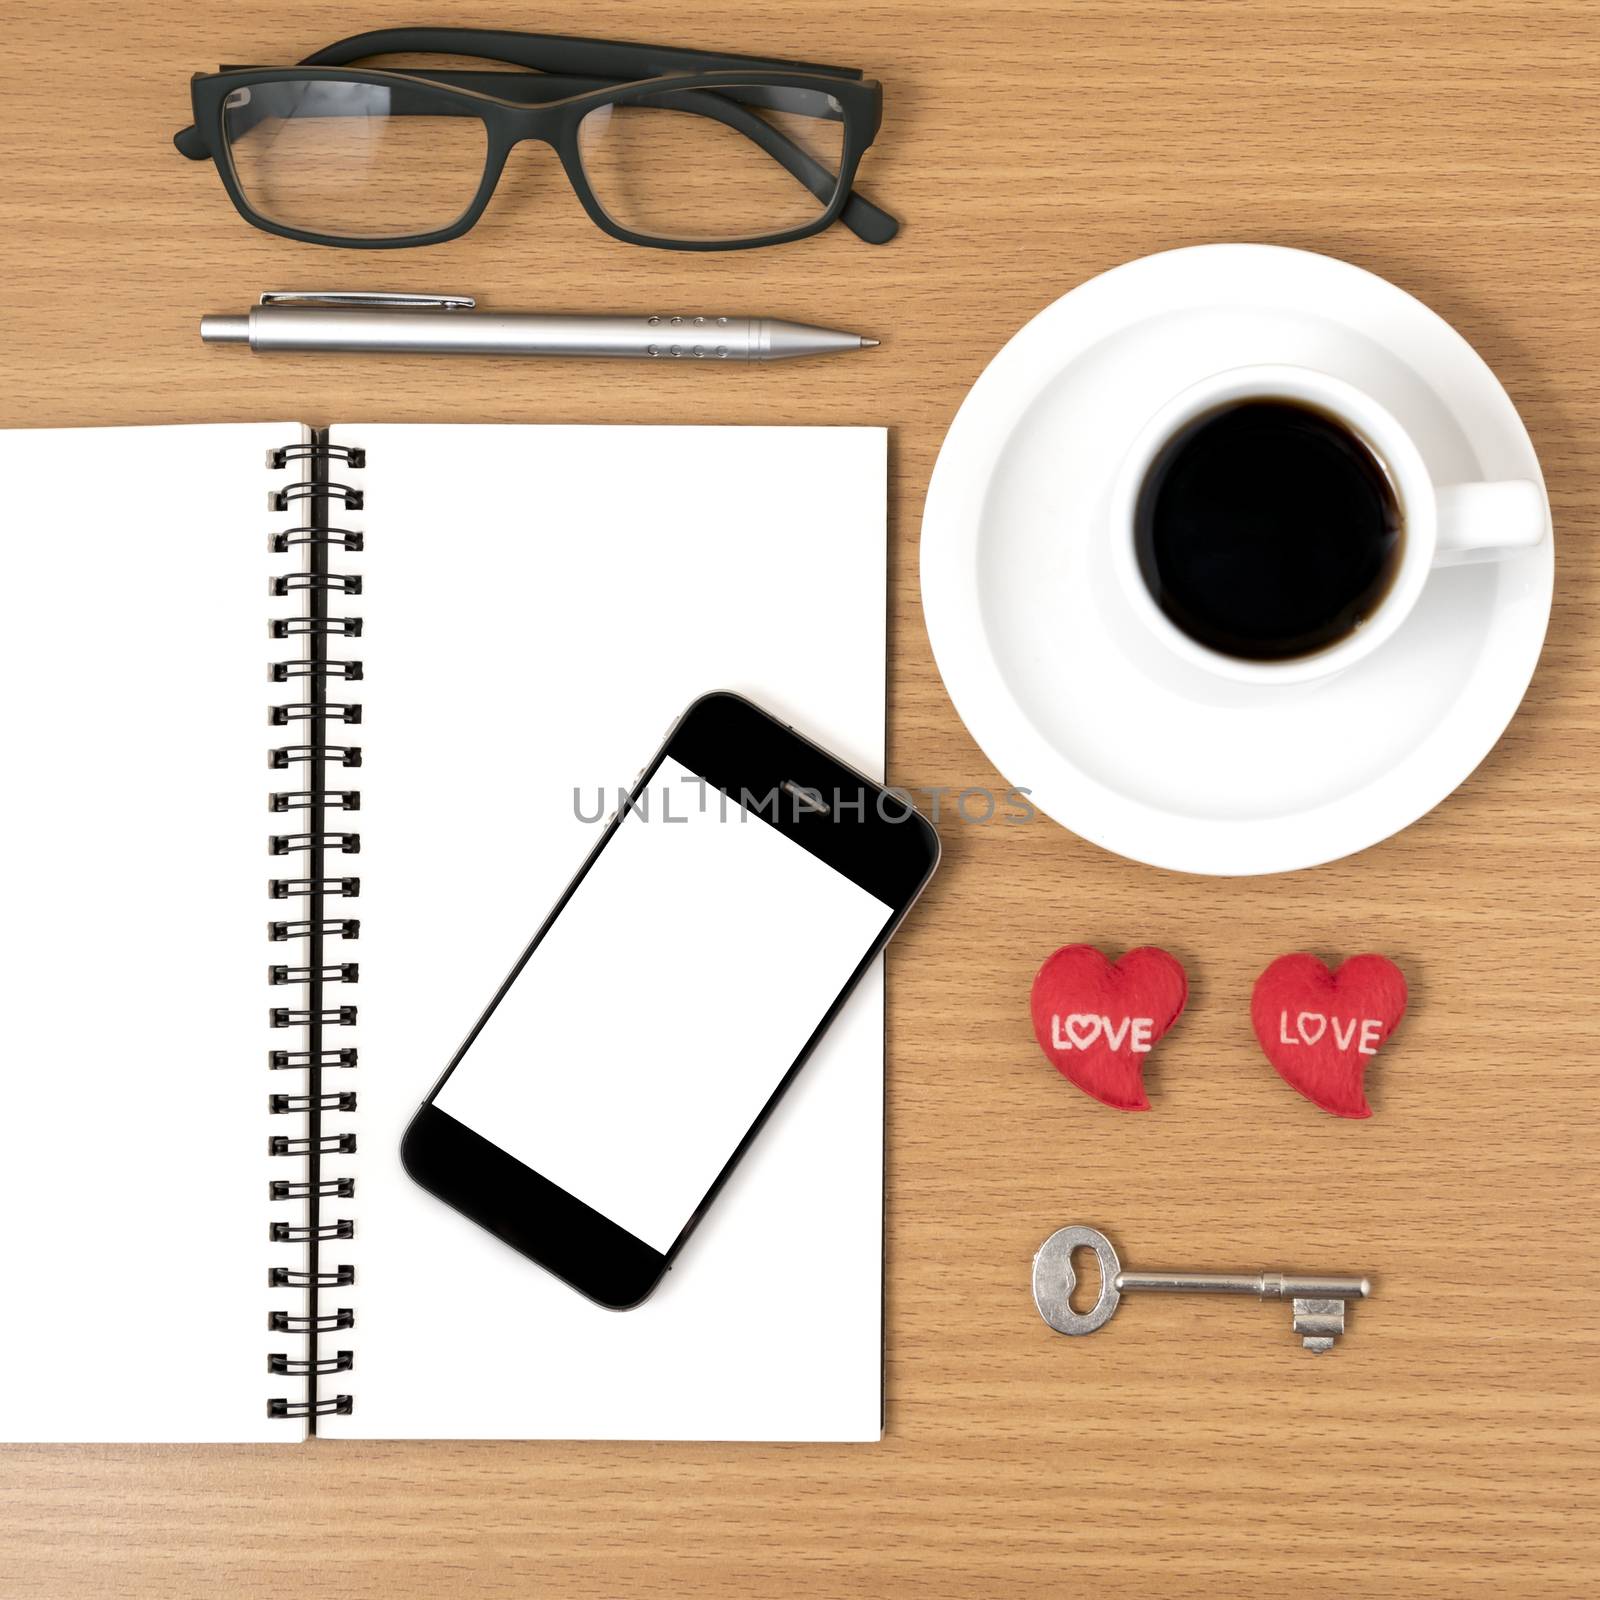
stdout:
<svg viewBox="0 0 1600 1600">
<path fill-rule="evenodd" d="M 1034 979 L 1034 1037 L 1050 1064 L 1117 1110 L 1149 1110 L 1144 1058 L 1189 998 L 1182 966 L 1146 946 L 1112 965 L 1093 944 L 1067 944 Z"/>
</svg>

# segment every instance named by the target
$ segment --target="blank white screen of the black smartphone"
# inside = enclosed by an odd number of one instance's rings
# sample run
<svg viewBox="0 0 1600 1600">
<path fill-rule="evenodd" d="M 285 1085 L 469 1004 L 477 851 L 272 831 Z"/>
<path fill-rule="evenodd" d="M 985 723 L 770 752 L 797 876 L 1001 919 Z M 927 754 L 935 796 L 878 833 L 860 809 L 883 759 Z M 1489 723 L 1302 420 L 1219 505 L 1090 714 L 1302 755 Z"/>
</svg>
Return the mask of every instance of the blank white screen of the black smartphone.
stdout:
<svg viewBox="0 0 1600 1600">
<path fill-rule="evenodd" d="M 666 1253 L 891 915 L 666 757 L 434 1104 Z"/>
</svg>

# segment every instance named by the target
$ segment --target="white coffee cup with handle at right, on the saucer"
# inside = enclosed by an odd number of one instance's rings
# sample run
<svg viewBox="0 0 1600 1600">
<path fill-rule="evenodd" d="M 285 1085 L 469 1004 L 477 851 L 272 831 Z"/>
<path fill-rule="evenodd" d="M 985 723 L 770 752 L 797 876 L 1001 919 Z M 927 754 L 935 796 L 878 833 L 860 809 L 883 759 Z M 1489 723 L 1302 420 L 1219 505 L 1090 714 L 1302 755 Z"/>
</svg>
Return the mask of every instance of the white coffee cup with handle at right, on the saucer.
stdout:
<svg viewBox="0 0 1600 1600">
<path fill-rule="evenodd" d="M 1400 565 L 1362 626 L 1307 656 L 1246 661 L 1202 645 L 1150 594 L 1134 547 L 1139 491 L 1162 448 L 1195 418 L 1240 400 L 1293 400 L 1338 418 L 1378 458 L 1402 517 Z M 1309 366 L 1235 366 L 1168 400 L 1134 437 L 1110 496 L 1112 566 L 1139 622 L 1189 666 L 1235 683 L 1304 683 L 1342 672 L 1392 638 L 1435 566 L 1486 562 L 1539 544 L 1549 526 L 1544 491 L 1526 478 L 1499 483 L 1434 482 L 1411 435 L 1371 395 Z"/>
</svg>

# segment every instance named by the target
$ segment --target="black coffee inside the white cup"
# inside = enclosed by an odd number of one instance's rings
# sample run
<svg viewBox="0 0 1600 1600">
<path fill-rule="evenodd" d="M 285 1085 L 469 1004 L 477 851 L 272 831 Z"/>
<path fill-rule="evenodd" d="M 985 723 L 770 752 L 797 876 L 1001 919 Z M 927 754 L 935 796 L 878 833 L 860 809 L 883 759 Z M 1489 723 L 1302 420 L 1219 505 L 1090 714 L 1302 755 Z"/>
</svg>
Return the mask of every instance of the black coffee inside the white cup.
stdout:
<svg viewBox="0 0 1600 1600">
<path fill-rule="evenodd" d="M 1389 592 L 1400 502 L 1366 443 L 1294 400 L 1195 418 L 1150 464 L 1139 571 L 1190 638 L 1246 661 L 1326 650 Z"/>
</svg>

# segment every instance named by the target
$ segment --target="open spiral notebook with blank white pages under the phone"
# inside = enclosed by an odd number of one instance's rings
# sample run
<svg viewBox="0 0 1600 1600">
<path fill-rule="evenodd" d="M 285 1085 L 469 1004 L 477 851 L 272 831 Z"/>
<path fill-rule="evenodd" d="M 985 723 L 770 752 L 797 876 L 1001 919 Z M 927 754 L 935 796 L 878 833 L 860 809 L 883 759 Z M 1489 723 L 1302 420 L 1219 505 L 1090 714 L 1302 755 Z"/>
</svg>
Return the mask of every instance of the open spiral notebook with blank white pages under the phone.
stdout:
<svg viewBox="0 0 1600 1600">
<path fill-rule="evenodd" d="M 638 1310 L 397 1142 L 690 699 L 882 774 L 883 432 L 19 430 L 0 472 L 0 1437 L 877 1438 L 880 976 Z"/>
</svg>

